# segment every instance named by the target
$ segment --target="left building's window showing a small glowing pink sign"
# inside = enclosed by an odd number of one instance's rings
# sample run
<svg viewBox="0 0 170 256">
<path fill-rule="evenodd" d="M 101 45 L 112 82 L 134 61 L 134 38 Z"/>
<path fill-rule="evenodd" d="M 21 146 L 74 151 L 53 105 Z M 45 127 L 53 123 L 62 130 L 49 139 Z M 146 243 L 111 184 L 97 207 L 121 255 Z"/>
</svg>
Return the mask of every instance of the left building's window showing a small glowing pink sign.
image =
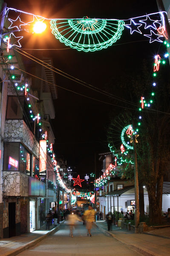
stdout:
<svg viewBox="0 0 170 256">
<path fill-rule="evenodd" d="M 4 171 L 18 171 L 19 170 L 19 147 L 17 142 L 7 142 L 4 144 Z"/>
</svg>

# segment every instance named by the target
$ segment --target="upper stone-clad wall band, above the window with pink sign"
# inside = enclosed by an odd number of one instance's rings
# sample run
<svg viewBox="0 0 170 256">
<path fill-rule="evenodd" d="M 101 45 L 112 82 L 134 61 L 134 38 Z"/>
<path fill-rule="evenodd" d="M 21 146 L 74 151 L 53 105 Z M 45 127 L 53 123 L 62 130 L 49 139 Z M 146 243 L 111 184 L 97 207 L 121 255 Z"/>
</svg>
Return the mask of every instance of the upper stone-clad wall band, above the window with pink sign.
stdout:
<svg viewBox="0 0 170 256">
<path fill-rule="evenodd" d="M 39 155 L 39 144 L 29 127 L 23 120 L 6 120 L 5 121 L 5 142 L 23 142 L 26 147 Z"/>
</svg>

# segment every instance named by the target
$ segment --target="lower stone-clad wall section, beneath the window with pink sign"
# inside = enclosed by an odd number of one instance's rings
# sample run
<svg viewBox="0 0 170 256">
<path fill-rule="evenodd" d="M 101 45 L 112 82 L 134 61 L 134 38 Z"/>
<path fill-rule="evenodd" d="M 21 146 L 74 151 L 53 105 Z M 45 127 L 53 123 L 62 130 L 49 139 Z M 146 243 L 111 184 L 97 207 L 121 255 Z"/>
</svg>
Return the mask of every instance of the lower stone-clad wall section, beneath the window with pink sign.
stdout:
<svg viewBox="0 0 170 256">
<path fill-rule="evenodd" d="M 28 176 L 19 171 L 3 171 L 3 196 L 28 197 Z"/>
</svg>

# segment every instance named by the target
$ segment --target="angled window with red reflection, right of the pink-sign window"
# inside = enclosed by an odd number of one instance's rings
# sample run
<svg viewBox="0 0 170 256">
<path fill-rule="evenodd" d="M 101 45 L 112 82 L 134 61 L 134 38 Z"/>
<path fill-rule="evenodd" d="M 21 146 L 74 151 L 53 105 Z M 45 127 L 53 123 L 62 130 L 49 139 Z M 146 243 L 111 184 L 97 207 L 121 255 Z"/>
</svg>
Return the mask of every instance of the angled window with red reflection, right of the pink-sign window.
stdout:
<svg viewBox="0 0 170 256">
<path fill-rule="evenodd" d="M 31 154 L 20 144 L 19 170 L 28 176 L 31 174 Z"/>
</svg>

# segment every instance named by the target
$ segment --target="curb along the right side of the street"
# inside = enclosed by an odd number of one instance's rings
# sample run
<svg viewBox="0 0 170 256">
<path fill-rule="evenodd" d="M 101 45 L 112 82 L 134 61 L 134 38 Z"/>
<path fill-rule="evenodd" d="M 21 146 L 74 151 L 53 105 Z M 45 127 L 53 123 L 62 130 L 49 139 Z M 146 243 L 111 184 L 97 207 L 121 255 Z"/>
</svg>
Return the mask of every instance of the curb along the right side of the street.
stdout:
<svg viewBox="0 0 170 256">
<path fill-rule="evenodd" d="M 107 230 L 104 230 L 103 228 L 99 227 L 96 223 L 94 223 L 95 226 L 103 233 L 105 233 L 106 235 L 111 236 L 112 238 L 115 238 L 115 240 L 117 240 L 118 242 L 120 242 L 121 244 L 125 245 L 126 247 L 134 250 L 135 252 L 141 253 L 145 256 L 161 256 L 160 254 L 157 253 L 153 253 L 150 250 L 144 249 L 143 247 L 139 247 L 139 246 L 135 246 L 133 244 L 126 244 L 123 241 L 121 241 L 121 239 L 117 238 L 116 235 L 110 233 Z"/>
</svg>

